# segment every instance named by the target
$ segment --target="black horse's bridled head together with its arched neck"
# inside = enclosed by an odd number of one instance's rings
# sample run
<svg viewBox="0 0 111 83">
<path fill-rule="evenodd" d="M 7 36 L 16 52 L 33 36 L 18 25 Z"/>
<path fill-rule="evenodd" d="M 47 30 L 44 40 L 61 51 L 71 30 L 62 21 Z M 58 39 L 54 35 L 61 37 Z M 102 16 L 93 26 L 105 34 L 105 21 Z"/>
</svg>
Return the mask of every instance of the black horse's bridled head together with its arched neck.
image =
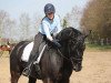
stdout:
<svg viewBox="0 0 111 83">
<path fill-rule="evenodd" d="M 64 55 L 71 59 L 72 66 L 75 72 L 81 71 L 82 69 L 83 51 L 85 49 L 85 38 L 87 35 L 82 34 L 80 31 L 73 28 L 64 29 L 58 35 L 60 43 L 64 45 Z"/>
</svg>

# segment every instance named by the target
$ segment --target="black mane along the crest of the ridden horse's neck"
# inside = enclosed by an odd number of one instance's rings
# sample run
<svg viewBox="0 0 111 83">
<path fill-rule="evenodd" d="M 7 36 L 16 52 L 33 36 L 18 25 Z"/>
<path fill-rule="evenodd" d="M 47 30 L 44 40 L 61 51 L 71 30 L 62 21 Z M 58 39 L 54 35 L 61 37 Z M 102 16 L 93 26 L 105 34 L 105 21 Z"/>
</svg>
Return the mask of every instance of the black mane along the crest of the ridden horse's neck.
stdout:
<svg viewBox="0 0 111 83">
<path fill-rule="evenodd" d="M 71 38 L 77 38 L 78 35 L 81 35 L 81 34 L 82 33 L 79 30 L 72 27 L 69 27 L 69 28 L 61 30 L 56 38 L 62 41 L 62 40 L 68 40 Z"/>
</svg>

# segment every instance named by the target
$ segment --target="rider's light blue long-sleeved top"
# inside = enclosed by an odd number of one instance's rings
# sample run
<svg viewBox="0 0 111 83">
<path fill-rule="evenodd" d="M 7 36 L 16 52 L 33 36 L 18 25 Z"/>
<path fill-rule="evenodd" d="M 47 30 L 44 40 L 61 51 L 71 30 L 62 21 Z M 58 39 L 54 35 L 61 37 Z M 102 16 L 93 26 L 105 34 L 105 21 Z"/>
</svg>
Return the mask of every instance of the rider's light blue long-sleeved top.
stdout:
<svg viewBox="0 0 111 83">
<path fill-rule="evenodd" d="M 39 27 L 39 32 L 47 35 L 47 39 L 51 40 L 51 34 L 56 35 L 61 31 L 60 18 L 54 14 L 53 21 L 50 21 L 47 17 L 43 18 Z"/>
</svg>

